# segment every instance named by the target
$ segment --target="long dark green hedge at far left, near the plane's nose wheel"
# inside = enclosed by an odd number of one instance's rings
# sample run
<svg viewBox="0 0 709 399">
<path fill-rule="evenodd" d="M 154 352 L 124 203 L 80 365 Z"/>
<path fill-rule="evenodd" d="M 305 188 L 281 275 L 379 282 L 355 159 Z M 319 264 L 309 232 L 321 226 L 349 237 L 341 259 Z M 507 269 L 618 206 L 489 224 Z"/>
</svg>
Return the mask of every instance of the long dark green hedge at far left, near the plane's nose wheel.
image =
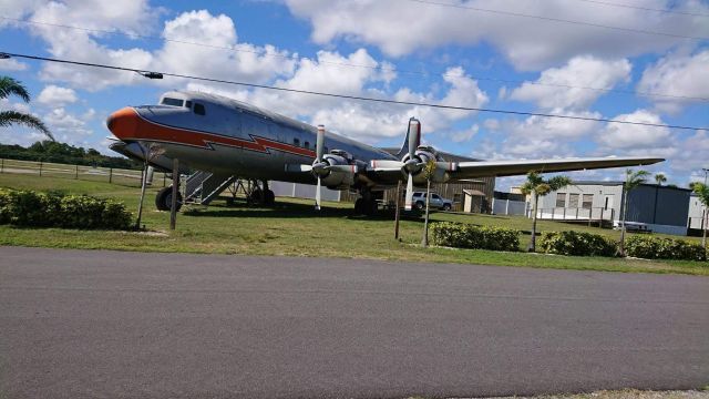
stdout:
<svg viewBox="0 0 709 399">
<path fill-rule="evenodd" d="M 132 218 L 125 205 L 113 200 L 0 188 L 0 224 L 127 229 Z"/>
</svg>

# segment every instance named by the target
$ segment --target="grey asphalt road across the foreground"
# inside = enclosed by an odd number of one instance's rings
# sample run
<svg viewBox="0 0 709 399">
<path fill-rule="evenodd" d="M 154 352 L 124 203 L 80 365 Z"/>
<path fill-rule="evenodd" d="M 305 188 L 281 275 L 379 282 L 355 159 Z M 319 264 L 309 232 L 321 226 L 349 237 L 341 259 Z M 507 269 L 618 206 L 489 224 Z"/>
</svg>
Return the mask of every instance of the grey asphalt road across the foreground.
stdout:
<svg viewBox="0 0 709 399">
<path fill-rule="evenodd" d="M 0 397 L 709 383 L 709 278 L 0 247 Z"/>
</svg>

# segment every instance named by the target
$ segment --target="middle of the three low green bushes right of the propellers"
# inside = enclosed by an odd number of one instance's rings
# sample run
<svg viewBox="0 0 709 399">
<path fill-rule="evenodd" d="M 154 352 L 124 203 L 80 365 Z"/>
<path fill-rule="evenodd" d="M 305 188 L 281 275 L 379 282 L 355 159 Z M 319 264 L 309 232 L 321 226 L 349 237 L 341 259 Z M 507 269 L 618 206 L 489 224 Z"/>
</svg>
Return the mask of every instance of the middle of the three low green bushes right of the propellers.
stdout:
<svg viewBox="0 0 709 399">
<path fill-rule="evenodd" d="M 616 242 L 599 234 L 582 232 L 549 232 L 540 239 L 540 248 L 547 254 L 573 256 L 615 256 Z"/>
</svg>

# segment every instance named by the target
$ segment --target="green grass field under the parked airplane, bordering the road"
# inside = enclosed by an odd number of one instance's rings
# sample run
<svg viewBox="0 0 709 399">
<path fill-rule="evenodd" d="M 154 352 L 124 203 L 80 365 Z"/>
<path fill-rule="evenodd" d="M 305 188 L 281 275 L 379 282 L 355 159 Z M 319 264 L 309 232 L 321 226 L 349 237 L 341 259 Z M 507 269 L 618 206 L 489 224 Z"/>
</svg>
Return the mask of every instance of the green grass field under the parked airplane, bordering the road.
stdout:
<svg viewBox="0 0 709 399">
<path fill-rule="evenodd" d="M 162 182 L 161 182 L 162 183 Z M 33 190 L 61 190 L 72 194 L 91 194 L 119 198 L 130 209 L 137 208 L 136 187 L 82 181 L 71 177 L 0 174 L 0 186 Z M 158 184 L 162 186 L 162 184 Z M 0 245 L 58 248 L 103 248 L 146 252 L 184 252 L 247 255 L 294 255 L 352 257 L 397 262 L 470 263 L 583 270 L 648 272 L 709 275 L 709 264 L 699 262 L 640 260 L 600 257 L 567 257 L 527 253 L 422 248 L 422 218 L 401 222 L 401 241 L 393 238 L 393 214 L 377 218 L 352 216 L 352 205 L 326 203 L 320 213 L 312 201 L 277 198 L 274 208 L 249 207 L 237 202 L 226 207 L 215 201 L 209 207 L 192 207 L 181 213 L 177 229 L 168 231 L 169 214 L 157 212 L 150 188 L 143 223 L 146 232 L 103 232 L 56 228 L 18 228 L 0 226 Z M 184 211 L 185 208 L 183 208 Z M 454 221 L 476 225 L 495 225 L 526 231 L 530 221 L 521 216 L 432 214 L 432 221 Z M 540 222 L 538 229 L 589 231 L 618 237 L 618 232 L 596 227 Z M 696 238 L 687 238 L 696 239 Z M 522 247 L 528 234 L 522 238 Z"/>
</svg>

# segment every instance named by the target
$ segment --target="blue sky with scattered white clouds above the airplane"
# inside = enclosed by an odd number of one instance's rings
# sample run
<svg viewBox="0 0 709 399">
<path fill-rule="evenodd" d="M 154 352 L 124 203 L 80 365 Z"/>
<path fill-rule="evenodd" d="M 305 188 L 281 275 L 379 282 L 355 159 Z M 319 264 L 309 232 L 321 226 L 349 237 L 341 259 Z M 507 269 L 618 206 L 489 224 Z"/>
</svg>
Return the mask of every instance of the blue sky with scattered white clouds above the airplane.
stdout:
<svg viewBox="0 0 709 399">
<path fill-rule="evenodd" d="M 380 146 L 410 116 L 423 141 L 484 160 L 647 155 L 668 183 L 709 167 L 707 0 L 0 0 L 0 52 L 335 94 L 696 129 L 442 110 L 133 72 L 0 60 L 32 94 L 0 110 L 110 154 L 107 115 L 188 89 L 227 95 Z M 702 129 L 703 127 L 703 129 Z M 42 139 L 0 127 L 0 143 Z M 623 170 L 569 174 L 620 180 Z M 504 190 L 520 178 L 497 183 Z"/>
</svg>

